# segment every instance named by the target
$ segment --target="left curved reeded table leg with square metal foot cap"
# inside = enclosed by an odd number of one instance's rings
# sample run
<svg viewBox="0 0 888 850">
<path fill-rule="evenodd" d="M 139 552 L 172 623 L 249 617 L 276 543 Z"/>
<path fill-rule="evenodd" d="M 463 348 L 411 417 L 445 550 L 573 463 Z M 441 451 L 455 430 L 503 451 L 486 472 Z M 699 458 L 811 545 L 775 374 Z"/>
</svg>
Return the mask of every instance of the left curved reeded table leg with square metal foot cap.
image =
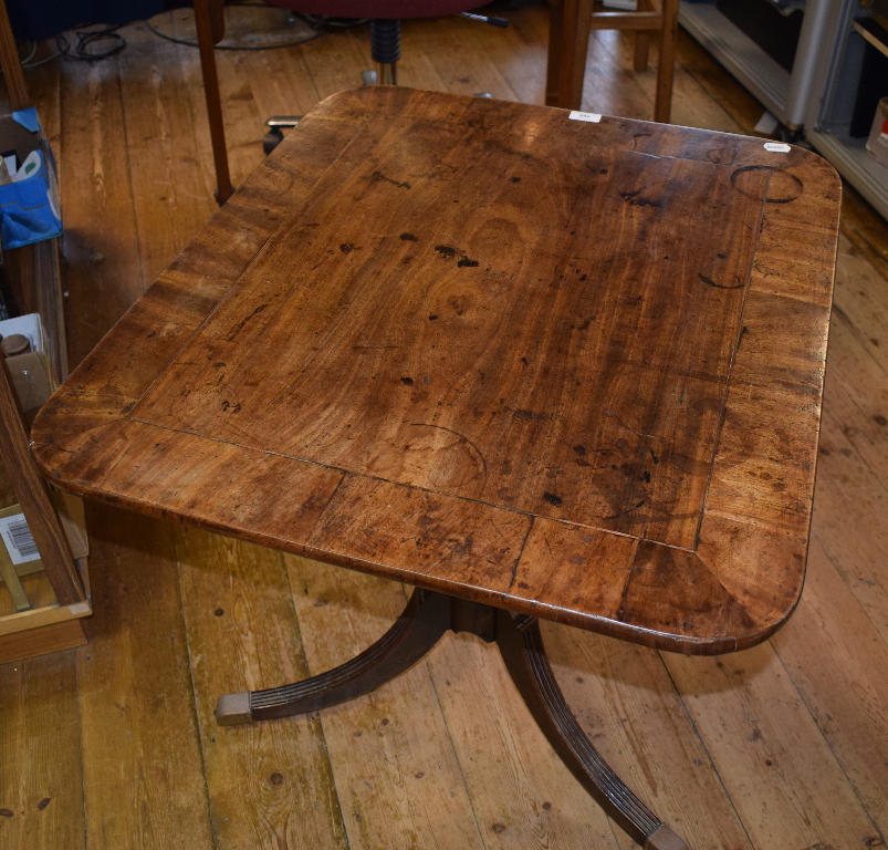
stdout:
<svg viewBox="0 0 888 850">
<path fill-rule="evenodd" d="M 376 643 L 342 666 L 303 682 L 219 697 L 216 719 L 233 726 L 307 714 L 368 694 L 421 659 L 451 626 L 451 597 L 414 591 L 407 608 Z"/>
</svg>

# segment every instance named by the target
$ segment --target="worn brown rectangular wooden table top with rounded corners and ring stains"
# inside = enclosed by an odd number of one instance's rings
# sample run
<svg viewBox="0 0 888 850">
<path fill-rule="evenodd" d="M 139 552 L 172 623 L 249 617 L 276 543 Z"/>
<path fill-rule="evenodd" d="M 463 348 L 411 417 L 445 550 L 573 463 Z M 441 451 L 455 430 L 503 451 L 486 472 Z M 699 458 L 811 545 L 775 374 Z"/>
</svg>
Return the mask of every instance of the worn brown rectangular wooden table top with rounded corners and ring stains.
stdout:
<svg viewBox="0 0 888 850">
<path fill-rule="evenodd" d="M 44 406 L 60 486 L 660 649 L 801 593 L 840 185 L 763 139 L 315 107 Z"/>
</svg>

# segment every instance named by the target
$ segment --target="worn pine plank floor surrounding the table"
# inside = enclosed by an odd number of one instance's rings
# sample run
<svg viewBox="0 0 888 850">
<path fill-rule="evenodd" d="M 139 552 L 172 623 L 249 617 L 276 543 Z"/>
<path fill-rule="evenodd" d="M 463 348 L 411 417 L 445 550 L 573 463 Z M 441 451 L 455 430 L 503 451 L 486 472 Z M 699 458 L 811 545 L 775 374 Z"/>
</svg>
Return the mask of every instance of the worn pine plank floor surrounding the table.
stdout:
<svg viewBox="0 0 888 850">
<path fill-rule="evenodd" d="M 229 9 L 280 34 L 279 11 Z M 283 17 L 282 17 L 283 15 Z M 547 12 L 404 28 L 400 82 L 542 103 Z M 187 35 L 190 13 L 155 25 Z M 145 24 L 95 63 L 28 71 L 60 164 L 71 362 L 215 209 L 197 52 Z M 49 50 L 51 45 L 42 45 Z M 655 49 L 656 53 L 656 49 Z M 45 55 L 45 53 L 41 54 Z M 584 108 L 647 118 L 655 72 L 595 33 Z M 359 82 L 366 28 L 219 52 L 236 183 L 262 120 Z M 761 106 L 682 33 L 673 121 Z M 888 228 L 846 191 L 808 578 L 769 643 L 687 659 L 546 624 L 595 745 L 691 850 L 866 850 L 888 833 Z M 348 705 L 217 727 L 216 697 L 351 657 L 401 585 L 90 506 L 86 646 L 0 665 L 3 850 L 628 850 L 554 756 L 495 649 L 449 635 Z"/>
</svg>

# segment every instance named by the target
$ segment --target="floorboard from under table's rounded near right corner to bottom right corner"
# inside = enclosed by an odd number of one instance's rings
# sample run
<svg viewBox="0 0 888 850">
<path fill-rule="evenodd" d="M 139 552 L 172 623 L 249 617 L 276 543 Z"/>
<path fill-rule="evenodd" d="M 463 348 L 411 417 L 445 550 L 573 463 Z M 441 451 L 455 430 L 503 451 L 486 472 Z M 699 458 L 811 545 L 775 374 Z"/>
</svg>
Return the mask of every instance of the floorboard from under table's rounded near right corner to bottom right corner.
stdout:
<svg viewBox="0 0 888 850">
<path fill-rule="evenodd" d="M 821 730 L 771 644 L 722 660 L 664 661 L 689 695 L 685 705 L 704 746 L 718 753 L 714 767 L 754 847 L 850 850 L 881 840 L 835 755 L 817 748 Z M 786 780 L 797 771 L 812 784 Z"/>
</svg>

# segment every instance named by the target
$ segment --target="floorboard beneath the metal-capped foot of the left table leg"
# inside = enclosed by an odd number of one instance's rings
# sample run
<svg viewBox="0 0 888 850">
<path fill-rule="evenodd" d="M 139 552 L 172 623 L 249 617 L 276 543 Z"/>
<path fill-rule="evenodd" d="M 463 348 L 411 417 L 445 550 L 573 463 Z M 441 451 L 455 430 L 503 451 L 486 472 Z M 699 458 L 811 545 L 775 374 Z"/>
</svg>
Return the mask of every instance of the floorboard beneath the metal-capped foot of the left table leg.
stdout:
<svg viewBox="0 0 888 850">
<path fill-rule="evenodd" d="M 175 540 L 215 846 L 342 850 L 339 800 L 317 718 L 231 729 L 212 714 L 232 687 L 306 674 L 281 553 L 233 540 L 220 547 L 190 528 L 177 528 Z M 265 619 L 273 629 L 253 628 Z"/>
</svg>

